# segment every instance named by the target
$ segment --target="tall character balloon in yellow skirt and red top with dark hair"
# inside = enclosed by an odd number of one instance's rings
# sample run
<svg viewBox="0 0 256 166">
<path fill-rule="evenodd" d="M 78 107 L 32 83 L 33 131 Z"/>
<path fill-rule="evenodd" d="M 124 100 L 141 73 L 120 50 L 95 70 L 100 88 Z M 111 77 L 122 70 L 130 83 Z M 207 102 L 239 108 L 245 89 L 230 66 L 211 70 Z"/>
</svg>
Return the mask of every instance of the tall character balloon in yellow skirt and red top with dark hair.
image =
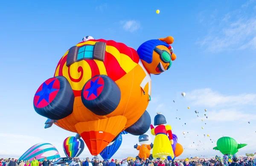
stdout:
<svg viewBox="0 0 256 166">
<path fill-rule="evenodd" d="M 172 150 L 173 138 L 172 138 L 172 127 L 166 124 L 166 118 L 161 113 L 157 113 L 154 117 L 154 128 L 153 125 L 150 126 L 151 134 L 155 135 L 154 148 L 153 148 L 153 158 L 161 158 L 165 160 L 167 156 L 174 158 L 174 153 Z M 169 136 L 169 137 L 168 137 Z"/>
</svg>

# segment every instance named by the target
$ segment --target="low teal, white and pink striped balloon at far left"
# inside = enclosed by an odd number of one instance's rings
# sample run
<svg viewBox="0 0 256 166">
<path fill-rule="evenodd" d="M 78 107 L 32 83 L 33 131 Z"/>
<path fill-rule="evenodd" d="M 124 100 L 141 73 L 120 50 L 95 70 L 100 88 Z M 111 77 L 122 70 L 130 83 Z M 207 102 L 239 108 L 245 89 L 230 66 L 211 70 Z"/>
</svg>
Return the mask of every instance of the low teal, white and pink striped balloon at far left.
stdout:
<svg viewBox="0 0 256 166">
<path fill-rule="evenodd" d="M 58 150 L 50 143 L 38 143 L 31 148 L 29 148 L 19 160 L 30 160 L 36 157 L 37 160 L 44 160 L 44 157 L 47 157 L 48 160 L 60 158 Z"/>
</svg>

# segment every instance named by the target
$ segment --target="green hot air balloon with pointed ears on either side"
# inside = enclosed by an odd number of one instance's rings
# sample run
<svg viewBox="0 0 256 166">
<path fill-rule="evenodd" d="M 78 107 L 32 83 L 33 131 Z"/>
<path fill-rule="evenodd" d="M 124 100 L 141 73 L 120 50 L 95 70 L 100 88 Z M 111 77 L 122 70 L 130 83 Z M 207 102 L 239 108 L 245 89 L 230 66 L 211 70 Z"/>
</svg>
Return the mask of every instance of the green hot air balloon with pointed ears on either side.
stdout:
<svg viewBox="0 0 256 166">
<path fill-rule="evenodd" d="M 223 155 L 234 155 L 238 149 L 247 146 L 247 144 L 238 144 L 231 137 L 221 137 L 217 141 L 217 146 L 213 149 L 219 150 Z"/>
</svg>

